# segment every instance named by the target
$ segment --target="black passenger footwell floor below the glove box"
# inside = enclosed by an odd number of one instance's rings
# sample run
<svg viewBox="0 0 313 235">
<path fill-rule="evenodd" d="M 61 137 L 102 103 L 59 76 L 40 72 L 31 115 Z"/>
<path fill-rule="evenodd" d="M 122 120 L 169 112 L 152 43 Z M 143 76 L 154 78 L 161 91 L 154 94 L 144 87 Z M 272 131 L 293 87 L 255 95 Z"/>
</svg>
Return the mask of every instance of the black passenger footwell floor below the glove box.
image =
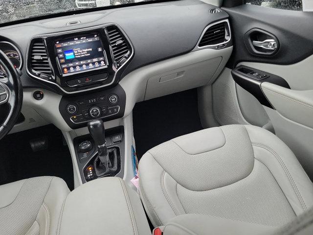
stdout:
<svg viewBox="0 0 313 235">
<path fill-rule="evenodd" d="M 138 159 L 152 147 L 202 129 L 197 89 L 137 103 L 133 110 Z"/>
</svg>

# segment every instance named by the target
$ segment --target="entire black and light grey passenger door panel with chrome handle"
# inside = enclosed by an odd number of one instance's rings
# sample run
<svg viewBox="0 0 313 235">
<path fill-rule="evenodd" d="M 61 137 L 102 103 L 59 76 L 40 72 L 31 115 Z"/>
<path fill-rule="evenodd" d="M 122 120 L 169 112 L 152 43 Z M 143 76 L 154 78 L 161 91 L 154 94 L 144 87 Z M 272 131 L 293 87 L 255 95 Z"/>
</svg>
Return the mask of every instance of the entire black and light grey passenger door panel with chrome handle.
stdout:
<svg viewBox="0 0 313 235">
<path fill-rule="evenodd" d="M 223 124 L 230 124 L 225 123 L 229 120 L 238 124 L 247 122 L 268 130 L 272 127 L 272 132 L 291 148 L 313 180 L 313 12 L 255 5 L 223 9 L 230 16 L 234 49 L 226 65 L 228 69 L 223 71 L 212 89 L 213 94 L 218 92 L 218 87 L 220 91 L 223 90 L 217 86 L 222 82 L 230 87 L 232 100 L 222 101 L 228 102 L 228 106 L 232 103 L 237 117 L 242 117 L 236 121 L 225 112 L 224 115 L 228 117 L 224 117 L 226 121 Z M 255 35 L 249 34 L 251 30 L 256 30 Z M 274 52 L 258 53 L 260 43 L 262 45 L 269 39 L 277 43 Z M 253 41 L 259 44 L 253 44 Z M 267 47 L 266 43 L 263 46 Z M 267 48 L 260 51 L 269 52 Z M 266 107 L 253 94 L 230 81 L 229 71 L 240 65 L 279 76 L 287 81 L 290 89 L 268 82 L 260 83 L 272 106 Z M 226 89 L 222 92 L 227 95 Z M 223 105 L 222 101 L 216 97 L 214 99 L 213 95 L 214 107 Z M 213 112 L 216 116 L 216 111 Z M 254 121 L 258 117 L 260 120 Z"/>
</svg>

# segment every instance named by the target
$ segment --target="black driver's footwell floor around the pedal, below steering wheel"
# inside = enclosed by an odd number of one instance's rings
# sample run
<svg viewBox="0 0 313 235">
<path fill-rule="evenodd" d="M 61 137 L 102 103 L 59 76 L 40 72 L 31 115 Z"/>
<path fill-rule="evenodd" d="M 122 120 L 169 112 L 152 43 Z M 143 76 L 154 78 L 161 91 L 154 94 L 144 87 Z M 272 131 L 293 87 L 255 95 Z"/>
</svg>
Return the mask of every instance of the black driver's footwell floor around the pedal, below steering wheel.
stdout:
<svg viewBox="0 0 313 235">
<path fill-rule="evenodd" d="M 29 141 L 48 139 L 48 148 L 33 152 Z M 57 176 L 74 188 L 73 166 L 62 132 L 54 125 L 22 131 L 0 141 L 0 185 L 37 176 Z"/>
</svg>

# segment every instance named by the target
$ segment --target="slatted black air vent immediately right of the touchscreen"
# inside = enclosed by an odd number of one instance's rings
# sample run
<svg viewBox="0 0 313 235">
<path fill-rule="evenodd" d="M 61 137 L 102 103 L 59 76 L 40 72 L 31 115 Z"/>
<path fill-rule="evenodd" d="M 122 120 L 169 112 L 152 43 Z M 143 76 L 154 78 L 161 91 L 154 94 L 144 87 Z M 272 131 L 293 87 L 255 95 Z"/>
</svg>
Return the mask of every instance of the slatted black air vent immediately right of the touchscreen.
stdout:
<svg viewBox="0 0 313 235">
<path fill-rule="evenodd" d="M 108 26 L 107 33 L 112 48 L 113 59 L 115 62 L 118 62 L 129 53 L 128 44 L 117 26 Z"/>
</svg>

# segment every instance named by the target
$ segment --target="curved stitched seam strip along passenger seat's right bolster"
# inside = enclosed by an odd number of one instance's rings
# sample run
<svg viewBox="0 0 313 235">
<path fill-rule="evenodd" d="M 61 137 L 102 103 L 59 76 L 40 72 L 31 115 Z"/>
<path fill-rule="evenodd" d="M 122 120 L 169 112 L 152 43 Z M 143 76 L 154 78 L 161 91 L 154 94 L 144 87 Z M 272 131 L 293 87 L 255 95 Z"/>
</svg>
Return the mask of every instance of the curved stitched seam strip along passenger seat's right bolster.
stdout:
<svg viewBox="0 0 313 235">
<path fill-rule="evenodd" d="M 293 180 L 293 178 L 291 176 L 291 173 L 289 172 L 286 164 L 280 158 L 280 156 L 273 149 L 268 147 L 267 145 L 264 145 L 264 144 L 261 144 L 261 143 L 252 143 L 252 145 L 262 147 L 262 148 L 268 150 L 271 154 L 274 155 L 274 157 L 276 158 L 278 163 L 282 166 L 285 174 L 287 175 L 287 178 L 288 178 L 289 182 L 291 183 L 291 186 L 292 186 L 292 188 L 293 188 L 293 190 L 294 190 L 294 192 L 295 192 L 295 194 L 296 194 L 296 196 L 297 196 L 297 198 L 298 198 L 298 200 L 299 200 L 299 202 L 301 204 L 302 209 L 303 210 L 307 210 L 307 206 L 306 206 L 306 204 L 305 204 L 305 202 L 304 202 L 304 200 L 302 198 L 302 195 L 301 195 L 299 189 L 297 188 L 297 186 L 296 186 L 296 184 L 295 184 L 295 182 L 294 182 L 294 180 Z"/>
</svg>

